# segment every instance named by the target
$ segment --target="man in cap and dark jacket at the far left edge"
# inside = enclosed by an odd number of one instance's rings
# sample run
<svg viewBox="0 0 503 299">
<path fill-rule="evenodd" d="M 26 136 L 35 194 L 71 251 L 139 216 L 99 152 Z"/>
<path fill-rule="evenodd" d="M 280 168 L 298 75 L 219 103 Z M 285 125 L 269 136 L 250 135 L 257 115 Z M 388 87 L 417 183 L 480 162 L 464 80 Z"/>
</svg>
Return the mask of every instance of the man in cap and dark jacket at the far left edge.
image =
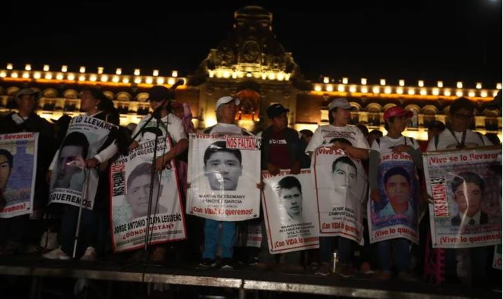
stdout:
<svg viewBox="0 0 503 299">
<path fill-rule="evenodd" d="M 39 93 L 35 89 L 21 89 L 16 95 L 17 112 L 11 112 L 0 119 L 0 134 L 19 132 L 38 132 L 37 173 L 35 176 L 35 197 L 33 210 L 40 212 L 46 206 L 48 184 L 45 174 L 55 152 L 55 136 L 47 120 L 35 113 Z M 0 219 L 0 243 L 7 241 L 14 246 L 6 246 L 2 253 L 16 251 L 19 245 L 27 242 L 29 235 L 29 215 L 21 215 L 9 219 Z M 37 236 L 38 237 L 38 236 Z"/>
</svg>

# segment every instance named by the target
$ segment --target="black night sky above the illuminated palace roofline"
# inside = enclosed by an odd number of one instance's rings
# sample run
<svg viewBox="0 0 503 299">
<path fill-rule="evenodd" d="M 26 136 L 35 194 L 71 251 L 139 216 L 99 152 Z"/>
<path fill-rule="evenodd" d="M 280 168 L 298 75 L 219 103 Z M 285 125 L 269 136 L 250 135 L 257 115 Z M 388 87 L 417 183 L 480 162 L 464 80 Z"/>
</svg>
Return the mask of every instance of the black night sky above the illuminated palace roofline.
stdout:
<svg viewBox="0 0 503 299">
<path fill-rule="evenodd" d="M 0 12 L 0 68 L 67 64 L 70 71 L 84 65 L 87 71 L 104 66 L 106 73 L 159 69 L 161 75 L 192 73 L 232 30 L 233 12 L 261 4 L 165 1 L 166 9 L 147 1 L 21 2 L 3 4 Z M 396 84 L 403 78 L 450 86 L 461 80 L 488 88 L 502 82 L 502 0 L 269 2 L 262 6 L 273 12 L 277 39 L 310 80 L 329 75 Z"/>
</svg>

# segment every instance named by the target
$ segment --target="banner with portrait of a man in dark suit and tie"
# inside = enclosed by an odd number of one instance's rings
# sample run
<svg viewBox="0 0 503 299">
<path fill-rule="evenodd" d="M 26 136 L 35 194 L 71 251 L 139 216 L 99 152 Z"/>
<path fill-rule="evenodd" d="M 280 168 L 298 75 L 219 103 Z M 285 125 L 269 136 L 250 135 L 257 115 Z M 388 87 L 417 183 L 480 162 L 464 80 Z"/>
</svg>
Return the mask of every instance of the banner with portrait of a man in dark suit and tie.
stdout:
<svg viewBox="0 0 503 299">
<path fill-rule="evenodd" d="M 430 204 L 432 246 L 467 248 L 495 245 L 501 237 L 501 148 L 423 154 Z"/>
</svg>

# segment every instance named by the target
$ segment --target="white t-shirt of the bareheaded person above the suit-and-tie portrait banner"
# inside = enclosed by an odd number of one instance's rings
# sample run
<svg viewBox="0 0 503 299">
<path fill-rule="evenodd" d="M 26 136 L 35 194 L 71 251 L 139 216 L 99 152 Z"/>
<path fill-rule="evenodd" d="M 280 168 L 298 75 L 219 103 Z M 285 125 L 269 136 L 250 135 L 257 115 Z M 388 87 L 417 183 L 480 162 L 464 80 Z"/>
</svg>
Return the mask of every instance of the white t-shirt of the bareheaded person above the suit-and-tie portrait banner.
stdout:
<svg viewBox="0 0 503 299">
<path fill-rule="evenodd" d="M 454 134 L 454 136 L 456 136 L 456 138 L 452 136 L 452 133 Z M 439 143 L 437 147 L 435 147 L 435 138 L 432 138 L 430 140 L 430 143 L 428 143 L 427 151 L 432 152 L 441 149 L 455 149 L 458 145 L 458 142 L 461 143 L 461 140 L 463 139 L 463 132 L 452 131 L 452 133 L 450 129 L 444 129 L 443 132 L 439 134 Z M 489 141 L 486 136 L 477 134 L 472 130 L 467 129 L 464 145 L 466 147 L 479 147 L 484 145 L 493 145 L 493 143 L 491 143 L 491 141 Z"/>
</svg>

